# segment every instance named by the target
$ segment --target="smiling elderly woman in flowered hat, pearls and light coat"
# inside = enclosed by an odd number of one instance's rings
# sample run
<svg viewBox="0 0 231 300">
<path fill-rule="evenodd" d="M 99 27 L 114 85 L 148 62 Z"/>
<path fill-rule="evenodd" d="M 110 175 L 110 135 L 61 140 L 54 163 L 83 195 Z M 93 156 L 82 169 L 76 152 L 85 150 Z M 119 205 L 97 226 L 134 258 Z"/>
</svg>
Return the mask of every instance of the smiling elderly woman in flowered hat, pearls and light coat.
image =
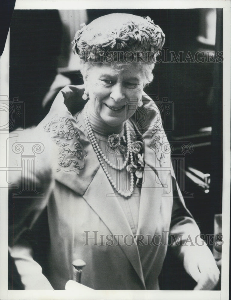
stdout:
<svg viewBox="0 0 231 300">
<path fill-rule="evenodd" d="M 176 179 L 160 113 L 143 92 L 164 41 L 149 17 L 116 13 L 84 24 L 73 41 L 84 85 L 63 88 L 41 124 L 12 139 L 17 163 L 17 143 L 24 152 L 32 142 L 42 148 L 34 168 L 23 166 L 22 183 L 17 172 L 10 175 L 25 190 L 21 198 L 10 191 L 9 230 L 25 289 L 64 289 L 75 259 L 86 264 L 81 283 L 93 289 L 159 289 L 170 237 L 195 289 L 216 285 L 211 251 L 179 189 L 172 191 Z M 30 176 L 35 188 L 23 185 Z M 46 210 L 48 223 L 38 227 Z M 49 232 L 43 269 L 35 255 L 42 231 Z"/>
</svg>

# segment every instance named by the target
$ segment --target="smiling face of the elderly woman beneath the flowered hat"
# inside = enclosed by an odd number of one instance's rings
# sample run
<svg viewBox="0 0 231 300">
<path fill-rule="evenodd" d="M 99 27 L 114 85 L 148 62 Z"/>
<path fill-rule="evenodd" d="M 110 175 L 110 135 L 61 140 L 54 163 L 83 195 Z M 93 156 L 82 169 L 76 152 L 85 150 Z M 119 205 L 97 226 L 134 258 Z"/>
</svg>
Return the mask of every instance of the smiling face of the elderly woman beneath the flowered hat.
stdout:
<svg viewBox="0 0 231 300">
<path fill-rule="evenodd" d="M 136 111 L 142 98 L 143 72 L 140 65 L 123 64 L 113 69 L 110 64 L 96 64 L 88 70 L 85 91 L 89 94 L 88 113 L 106 125 L 122 125 Z"/>
</svg>

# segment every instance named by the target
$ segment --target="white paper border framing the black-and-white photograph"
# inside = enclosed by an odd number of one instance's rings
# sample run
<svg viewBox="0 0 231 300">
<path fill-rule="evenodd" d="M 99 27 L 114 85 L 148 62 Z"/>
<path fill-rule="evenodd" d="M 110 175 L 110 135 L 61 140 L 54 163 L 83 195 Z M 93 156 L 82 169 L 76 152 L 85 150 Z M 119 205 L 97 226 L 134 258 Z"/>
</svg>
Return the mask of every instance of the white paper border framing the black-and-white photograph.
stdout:
<svg viewBox="0 0 231 300">
<path fill-rule="evenodd" d="M 142 3 L 141 3 L 142 2 Z M 109 7 L 110 6 L 110 7 Z M 144 7 L 145 6 L 145 7 Z M 0 298 L 1 299 L 228 299 L 229 298 L 229 220 L 230 220 L 230 1 L 60 1 L 16 0 L 15 9 L 100 9 L 100 8 L 223 8 L 223 208 L 222 208 L 222 270 L 221 291 L 131 291 L 94 290 L 93 294 L 80 292 L 73 295 L 67 291 L 17 291 L 8 290 L 8 193 L 0 189 Z M 0 61 L 0 95 L 9 95 L 9 34 Z M 7 122 L 7 120 L 6 120 Z M 4 139 L 7 138 L 7 132 Z M 1 153 L 6 153 L 1 139 Z M 4 162 L 0 160 L 1 166 Z M 0 175 L 2 176 L 1 172 Z M 1 178 L 0 178 L 1 179 Z"/>
</svg>

